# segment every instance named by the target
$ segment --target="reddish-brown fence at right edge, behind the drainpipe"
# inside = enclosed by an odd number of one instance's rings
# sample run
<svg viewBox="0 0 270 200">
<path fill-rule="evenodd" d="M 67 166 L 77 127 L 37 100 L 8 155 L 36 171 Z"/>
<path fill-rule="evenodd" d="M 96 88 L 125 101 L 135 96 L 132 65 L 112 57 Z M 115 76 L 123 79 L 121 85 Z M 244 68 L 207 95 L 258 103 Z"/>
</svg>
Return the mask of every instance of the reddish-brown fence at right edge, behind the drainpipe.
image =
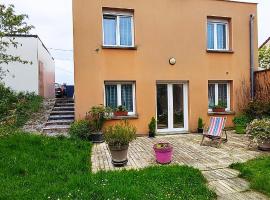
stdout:
<svg viewBox="0 0 270 200">
<path fill-rule="evenodd" d="M 255 72 L 255 94 L 260 100 L 270 100 L 270 69 Z"/>
</svg>

